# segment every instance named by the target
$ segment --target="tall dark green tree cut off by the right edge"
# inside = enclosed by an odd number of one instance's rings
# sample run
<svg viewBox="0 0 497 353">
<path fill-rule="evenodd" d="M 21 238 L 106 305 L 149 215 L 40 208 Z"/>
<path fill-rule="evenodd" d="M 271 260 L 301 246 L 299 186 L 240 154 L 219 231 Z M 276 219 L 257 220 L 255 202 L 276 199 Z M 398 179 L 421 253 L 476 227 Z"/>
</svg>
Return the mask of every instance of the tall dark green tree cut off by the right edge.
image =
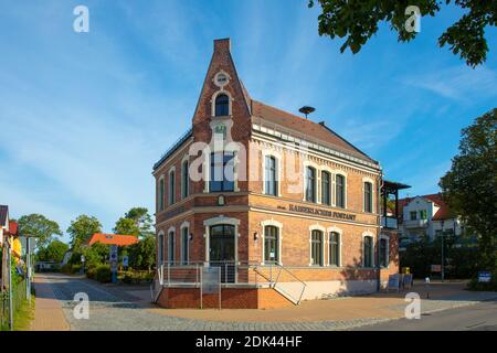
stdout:
<svg viewBox="0 0 497 353">
<path fill-rule="evenodd" d="M 497 109 L 463 129 L 459 153 L 440 186 L 451 210 L 478 235 L 479 269 L 497 260 Z"/>
</svg>

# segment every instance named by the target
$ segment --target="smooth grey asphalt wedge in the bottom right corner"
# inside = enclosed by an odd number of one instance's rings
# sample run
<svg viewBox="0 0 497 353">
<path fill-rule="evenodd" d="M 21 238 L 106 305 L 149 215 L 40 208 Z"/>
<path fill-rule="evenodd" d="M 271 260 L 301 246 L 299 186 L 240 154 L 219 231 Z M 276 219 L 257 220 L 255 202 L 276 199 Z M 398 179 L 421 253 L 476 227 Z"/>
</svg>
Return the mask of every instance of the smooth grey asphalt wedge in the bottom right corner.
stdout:
<svg viewBox="0 0 497 353">
<path fill-rule="evenodd" d="M 497 300 L 423 314 L 420 320 L 393 320 L 356 331 L 497 331 Z"/>
</svg>

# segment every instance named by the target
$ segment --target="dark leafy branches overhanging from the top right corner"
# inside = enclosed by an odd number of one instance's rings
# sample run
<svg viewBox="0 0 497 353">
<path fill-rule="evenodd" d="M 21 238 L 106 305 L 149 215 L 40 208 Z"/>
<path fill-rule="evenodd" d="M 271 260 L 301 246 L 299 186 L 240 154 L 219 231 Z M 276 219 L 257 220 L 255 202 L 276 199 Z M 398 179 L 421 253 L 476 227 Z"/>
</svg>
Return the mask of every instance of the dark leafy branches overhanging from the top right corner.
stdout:
<svg viewBox="0 0 497 353">
<path fill-rule="evenodd" d="M 416 6 L 422 17 L 435 17 L 445 3 L 459 7 L 464 14 L 438 38 L 438 46 L 448 45 L 467 65 L 476 66 L 487 58 L 485 29 L 497 24 L 495 0 L 309 0 L 309 8 L 316 2 L 322 10 L 318 17 L 319 34 L 346 38 L 340 51 L 350 47 L 355 54 L 378 32 L 380 22 L 389 23 L 399 42 L 411 41 L 416 32 L 405 26 L 412 15 L 405 14 L 406 8 Z"/>
</svg>

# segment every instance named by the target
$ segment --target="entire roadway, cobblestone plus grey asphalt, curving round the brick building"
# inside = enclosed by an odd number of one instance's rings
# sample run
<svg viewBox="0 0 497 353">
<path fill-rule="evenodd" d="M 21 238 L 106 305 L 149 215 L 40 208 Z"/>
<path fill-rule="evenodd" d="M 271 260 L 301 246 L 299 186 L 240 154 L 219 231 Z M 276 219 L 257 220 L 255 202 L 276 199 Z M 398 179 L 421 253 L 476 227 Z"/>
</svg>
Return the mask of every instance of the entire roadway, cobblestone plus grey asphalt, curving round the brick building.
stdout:
<svg viewBox="0 0 497 353">
<path fill-rule="evenodd" d="M 475 296 L 478 297 L 478 293 L 462 293 L 461 298 L 456 298 L 456 300 L 429 301 L 423 306 L 424 313 L 454 308 L 455 306 L 466 307 L 425 314 L 421 322 L 417 323 L 395 320 L 379 324 L 385 321 L 385 319 L 379 318 L 318 322 L 231 322 L 176 318 L 157 313 L 157 311 L 147 310 L 147 304 L 144 303 L 144 300 L 131 295 L 136 292 L 123 290 L 123 287 L 104 286 L 85 278 L 59 274 L 38 276 L 43 278 L 43 286 L 45 288 L 47 286 L 53 291 L 73 331 L 330 331 L 347 330 L 364 324 L 377 324 L 363 328 L 368 330 L 435 330 L 451 328 L 467 330 L 486 327 L 495 328 L 497 324 L 495 320 L 497 318 L 496 301 L 475 304 Z M 74 301 L 74 296 L 80 292 L 86 293 L 89 299 L 89 319 L 87 320 L 78 320 L 74 315 L 74 308 L 77 303 Z M 472 296 L 473 301 L 467 301 L 467 296 Z M 54 300 L 53 296 L 52 300 Z M 403 307 L 401 308 L 402 310 Z M 49 319 L 53 319 L 53 315 L 50 315 Z M 466 327 L 454 325 L 454 322 L 458 321 L 468 323 Z M 472 324 L 474 327 L 470 327 Z"/>
</svg>

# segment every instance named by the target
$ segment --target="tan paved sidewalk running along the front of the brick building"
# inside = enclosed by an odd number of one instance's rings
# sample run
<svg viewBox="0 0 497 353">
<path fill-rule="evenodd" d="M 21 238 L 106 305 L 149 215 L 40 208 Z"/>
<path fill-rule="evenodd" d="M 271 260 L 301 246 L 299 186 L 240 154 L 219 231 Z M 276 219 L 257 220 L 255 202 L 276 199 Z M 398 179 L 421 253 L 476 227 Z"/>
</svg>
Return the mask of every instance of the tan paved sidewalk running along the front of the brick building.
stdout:
<svg viewBox="0 0 497 353">
<path fill-rule="evenodd" d="M 416 282 L 404 292 L 382 292 L 363 297 L 345 297 L 328 300 L 304 301 L 298 307 L 271 310 L 195 310 L 195 309 L 149 309 L 168 317 L 208 321 L 232 322 L 331 322 L 331 321 L 377 321 L 404 317 L 408 292 L 416 292 L 421 298 L 422 313 L 476 304 L 497 298 L 497 292 L 472 292 L 464 290 L 465 282 L 432 282 L 430 299 L 426 287 Z"/>
</svg>

